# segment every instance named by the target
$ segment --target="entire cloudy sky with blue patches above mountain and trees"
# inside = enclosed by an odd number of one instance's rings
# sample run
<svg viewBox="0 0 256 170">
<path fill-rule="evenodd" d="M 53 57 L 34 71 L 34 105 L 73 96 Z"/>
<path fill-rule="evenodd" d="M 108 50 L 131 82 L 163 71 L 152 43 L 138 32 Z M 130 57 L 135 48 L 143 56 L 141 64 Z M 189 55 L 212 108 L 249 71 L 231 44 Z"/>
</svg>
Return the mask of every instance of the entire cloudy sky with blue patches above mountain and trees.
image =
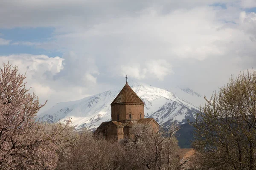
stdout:
<svg viewBox="0 0 256 170">
<path fill-rule="evenodd" d="M 0 0 L 0 62 L 42 111 L 142 82 L 209 97 L 256 68 L 256 0 Z"/>
</svg>

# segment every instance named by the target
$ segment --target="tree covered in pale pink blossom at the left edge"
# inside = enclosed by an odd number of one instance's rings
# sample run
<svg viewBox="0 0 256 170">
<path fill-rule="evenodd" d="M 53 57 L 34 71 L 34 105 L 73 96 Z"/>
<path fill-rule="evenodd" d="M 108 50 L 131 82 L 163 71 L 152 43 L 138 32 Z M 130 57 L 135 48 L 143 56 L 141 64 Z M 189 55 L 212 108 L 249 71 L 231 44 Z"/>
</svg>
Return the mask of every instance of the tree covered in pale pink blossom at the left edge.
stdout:
<svg viewBox="0 0 256 170">
<path fill-rule="evenodd" d="M 0 169 L 54 169 L 70 130 L 35 122 L 45 103 L 28 93 L 25 78 L 9 62 L 0 69 Z"/>
</svg>

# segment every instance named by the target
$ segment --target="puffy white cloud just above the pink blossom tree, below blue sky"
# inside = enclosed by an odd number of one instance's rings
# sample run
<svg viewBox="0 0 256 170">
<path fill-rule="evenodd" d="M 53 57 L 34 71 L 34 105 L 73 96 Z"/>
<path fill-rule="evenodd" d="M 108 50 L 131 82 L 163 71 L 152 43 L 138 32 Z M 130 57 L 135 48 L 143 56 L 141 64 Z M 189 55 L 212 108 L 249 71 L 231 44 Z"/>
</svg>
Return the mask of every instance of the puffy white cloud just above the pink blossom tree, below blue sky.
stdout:
<svg viewBox="0 0 256 170">
<path fill-rule="evenodd" d="M 12 65 L 17 65 L 21 74 L 26 73 L 28 86 L 32 86 L 32 91 L 44 99 L 51 95 L 51 87 L 47 83 L 46 73 L 55 75 L 63 69 L 63 59 L 60 57 L 47 57 L 45 55 L 19 54 L 0 56 L 0 62 L 9 61 Z M 1 66 L 2 67 L 2 66 Z"/>
</svg>

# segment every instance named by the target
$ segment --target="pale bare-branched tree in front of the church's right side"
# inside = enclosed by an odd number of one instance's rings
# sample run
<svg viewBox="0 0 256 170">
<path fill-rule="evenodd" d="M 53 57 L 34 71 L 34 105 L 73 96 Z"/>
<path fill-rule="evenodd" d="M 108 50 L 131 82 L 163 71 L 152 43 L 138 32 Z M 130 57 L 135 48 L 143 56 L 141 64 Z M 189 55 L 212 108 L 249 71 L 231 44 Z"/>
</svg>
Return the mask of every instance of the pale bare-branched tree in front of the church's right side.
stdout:
<svg viewBox="0 0 256 170">
<path fill-rule="evenodd" d="M 173 124 L 168 132 L 155 130 L 150 125 L 134 125 L 135 142 L 126 146 L 128 155 L 138 169 L 176 170 L 180 167 L 178 144 L 175 133 L 178 128 Z"/>
</svg>

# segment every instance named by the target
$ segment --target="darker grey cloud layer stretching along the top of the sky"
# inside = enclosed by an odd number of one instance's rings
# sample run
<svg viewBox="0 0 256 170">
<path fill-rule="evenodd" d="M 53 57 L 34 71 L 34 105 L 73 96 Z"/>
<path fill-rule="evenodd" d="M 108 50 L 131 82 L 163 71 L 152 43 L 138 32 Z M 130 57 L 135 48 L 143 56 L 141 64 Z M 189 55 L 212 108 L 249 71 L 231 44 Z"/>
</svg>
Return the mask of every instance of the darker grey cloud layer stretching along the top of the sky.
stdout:
<svg viewBox="0 0 256 170">
<path fill-rule="evenodd" d="M 5 16 L 0 18 L 0 27 L 58 27 L 59 31 L 67 32 L 72 27 L 64 27 L 80 25 L 75 28 L 79 31 L 116 16 L 136 16 L 148 7 L 163 8 L 164 12 L 168 12 L 216 3 L 245 7 L 254 4 L 253 0 L 8 0 L 0 6 L 0 16 Z"/>
</svg>

